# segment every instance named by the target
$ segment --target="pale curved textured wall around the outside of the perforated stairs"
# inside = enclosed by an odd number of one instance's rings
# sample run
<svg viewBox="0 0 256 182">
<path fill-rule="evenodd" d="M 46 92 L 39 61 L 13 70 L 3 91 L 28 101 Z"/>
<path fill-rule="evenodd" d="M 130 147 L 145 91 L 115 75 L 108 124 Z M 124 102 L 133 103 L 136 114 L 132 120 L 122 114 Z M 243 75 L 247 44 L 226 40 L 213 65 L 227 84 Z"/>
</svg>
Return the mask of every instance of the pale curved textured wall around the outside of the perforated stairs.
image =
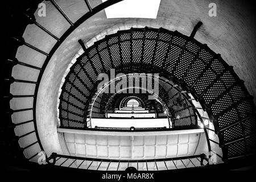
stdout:
<svg viewBox="0 0 256 182">
<path fill-rule="evenodd" d="M 72 20 L 86 12 L 82 0 L 56 1 Z M 91 1 L 92 6 L 100 3 L 100 0 Z M 208 16 L 208 5 L 215 2 L 217 5 L 217 17 Z M 60 36 L 67 30 L 69 24 L 53 8 L 51 3 L 46 2 L 46 17 L 37 17 L 37 21 L 51 30 L 56 36 Z M 201 1 L 184 0 L 170 1 L 162 0 L 156 19 L 106 19 L 105 11 L 94 15 L 86 22 L 81 24 L 63 44 L 57 49 L 47 66 L 40 83 L 37 106 L 36 121 L 39 129 L 40 139 L 44 150 L 47 152 L 61 153 L 61 146 L 57 136 L 57 96 L 61 79 L 67 69 L 72 57 L 80 49 L 77 40 L 93 42 L 102 35 L 114 33 L 130 27 L 163 27 L 168 30 L 177 30 L 185 35 L 190 35 L 193 27 L 198 21 L 203 22 L 203 26 L 197 32 L 195 39 L 201 43 L 206 43 L 216 53 L 221 53 L 223 59 L 234 66 L 238 76 L 245 80 L 245 84 L 250 94 L 256 96 L 256 52 L 255 52 L 255 18 L 250 15 L 243 1 Z M 56 40 L 45 34 L 38 27 L 30 25 L 26 28 L 23 35 L 26 42 L 48 52 L 55 44 Z M 31 50 L 27 47 L 20 47 L 16 57 L 20 61 L 36 66 L 42 66 L 44 55 Z M 38 76 L 37 71 L 30 68 L 23 68 L 16 65 L 13 69 L 15 78 L 27 78 L 35 80 Z M 12 93 L 22 93 L 23 90 L 33 90 L 26 84 L 15 84 L 11 86 Z M 19 104 L 14 101 L 11 107 L 15 108 Z M 30 102 L 30 101 L 28 101 Z M 15 118 L 15 117 L 13 117 Z M 16 118 L 14 122 L 19 122 Z"/>
</svg>

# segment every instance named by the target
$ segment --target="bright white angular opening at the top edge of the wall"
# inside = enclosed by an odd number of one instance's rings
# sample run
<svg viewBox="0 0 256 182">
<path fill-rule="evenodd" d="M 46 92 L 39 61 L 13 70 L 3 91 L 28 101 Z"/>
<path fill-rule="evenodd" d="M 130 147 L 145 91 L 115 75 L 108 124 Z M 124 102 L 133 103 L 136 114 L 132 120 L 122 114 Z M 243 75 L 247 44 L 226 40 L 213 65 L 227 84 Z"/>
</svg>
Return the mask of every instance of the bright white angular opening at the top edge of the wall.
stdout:
<svg viewBox="0 0 256 182">
<path fill-rule="evenodd" d="M 105 2 L 107 0 L 102 0 Z M 107 18 L 156 19 L 161 0 L 124 0 L 105 9 Z"/>
</svg>

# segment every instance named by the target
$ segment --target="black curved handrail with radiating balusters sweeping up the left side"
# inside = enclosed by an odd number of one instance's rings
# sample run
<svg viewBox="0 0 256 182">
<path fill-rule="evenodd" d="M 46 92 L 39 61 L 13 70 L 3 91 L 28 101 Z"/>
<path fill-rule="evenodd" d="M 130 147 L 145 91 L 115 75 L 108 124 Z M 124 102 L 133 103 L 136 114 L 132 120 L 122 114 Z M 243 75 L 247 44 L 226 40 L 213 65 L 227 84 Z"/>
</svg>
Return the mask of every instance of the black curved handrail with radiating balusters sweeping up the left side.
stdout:
<svg viewBox="0 0 256 182">
<path fill-rule="evenodd" d="M 31 49 L 34 49 L 35 51 L 39 52 L 39 53 L 42 53 L 43 55 L 47 56 L 46 57 L 46 60 L 44 60 L 44 63 L 43 63 L 43 66 L 42 68 L 39 68 L 39 67 L 35 67 L 33 65 L 30 65 L 30 64 L 27 64 L 27 63 L 23 63 L 21 61 L 18 61 L 17 59 L 14 59 L 14 60 L 9 60 L 13 63 L 13 65 L 16 65 L 16 64 L 20 64 L 20 65 L 23 65 L 25 67 L 30 67 L 30 68 L 33 68 L 33 69 L 37 69 L 39 70 L 39 75 L 38 75 L 38 78 L 36 81 L 28 81 L 28 80 L 18 80 L 18 79 L 15 79 L 13 77 L 10 77 L 10 78 L 5 78 L 6 81 L 9 81 L 11 83 L 13 82 L 24 82 L 24 83 L 30 83 L 30 84 L 35 84 L 35 91 L 34 91 L 34 95 L 26 95 L 26 96 L 14 96 L 12 94 L 10 94 L 9 96 L 7 96 L 8 98 L 15 98 L 15 97 L 33 97 L 34 100 L 33 100 L 33 106 L 31 108 L 27 108 L 27 109 L 19 109 L 19 110 L 12 110 L 10 109 L 9 111 L 7 111 L 6 113 L 10 113 L 10 114 L 13 114 L 15 112 L 19 112 L 19 111 L 26 111 L 26 110 L 32 110 L 33 111 L 33 119 L 31 119 L 30 121 L 26 121 L 26 122 L 22 122 L 22 123 L 19 123 L 18 125 L 23 125 L 23 124 L 26 124 L 26 123 L 29 123 L 29 122 L 34 122 L 34 132 L 36 134 L 36 139 L 37 141 L 24 147 L 24 149 L 34 145 L 35 143 L 38 143 L 39 144 L 39 147 L 41 150 L 44 150 L 43 149 L 43 145 L 42 143 L 40 142 L 40 137 L 39 137 L 39 134 L 38 134 L 38 129 L 37 129 L 37 125 L 36 125 L 36 100 L 37 100 L 37 95 L 38 95 L 38 91 L 39 91 L 39 85 L 40 85 L 40 81 L 42 80 L 42 76 L 43 76 L 43 73 L 44 73 L 44 70 L 46 69 L 49 61 L 51 60 L 51 57 L 53 56 L 53 54 L 56 52 L 56 50 L 61 46 L 61 44 L 65 41 L 65 39 L 68 38 L 68 36 L 77 28 L 79 27 L 82 23 L 84 23 L 87 19 L 89 19 L 91 16 L 93 16 L 94 14 L 106 9 L 107 7 L 109 6 L 112 6 L 114 5 L 115 3 L 118 3 L 118 2 L 121 2 L 123 0 L 108 0 L 106 2 L 102 2 L 100 5 L 92 8 L 90 6 L 90 3 L 88 1 L 85 1 L 86 3 L 86 6 L 88 7 L 89 11 L 87 13 L 85 13 L 84 15 L 82 15 L 75 23 L 73 23 L 69 18 L 68 16 L 64 13 L 63 10 L 61 10 L 61 8 L 59 7 L 59 5 L 57 5 L 57 3 L 54 1 L 54 0 L 51 0 L 51 3 L 52 5 L 60 12 L 60 14 L 62 16 L 64 16 L 64 18 L 68 21 L 69 24 L 71 24 L 71 27 L 68 28 L 68 30 L 66 30 L 64 32 L 63 35 L 61 35 L 60 38 L 57 38 L 55 35 L 53 35 L 50 31 L 48 31 L 46 28 L 44 28 L 41 24 L 39 24 L 38 22 L 36 22 L 36 19 L 34 17 L 34 15 L 27 15 L 26 13 L 23 13 L 27 20 L 28 20 L 28 24 L 35 24 L 36 26 L 38 26 L 39 28 L 41 28 L 44 32 L 46 32 L 48 35 L 52 36 L 52 38 L 56 39 L 57 42 L 56 44 L 52 47 L 51 51 L 49 51 L 49 53 L 46 53 L 44 51 L 42 51 L 41 49 L 39 48 L 36 48 L 34 46 L 32 46 L 31 44 L 29 43 L 26 43 L 24 41 L 23 38 L 14 38 L 12 37 L 18 44 L 18 46 L 27 46 Z M 18 126 L 18 125 L 15 125 L 15 126 Z M 31 133 L 31 132 L 30 132 Z M 28 134 L 30 134 L 28 133 Z M 19 138 L 21 137 L 24 137 L 26 136 L 27 134 L 24 134 L 22 136 L 20 136 Z M 35 155 L 32 155 L 28 160 L 34 158 L 37 154 Z"/>
</svg>

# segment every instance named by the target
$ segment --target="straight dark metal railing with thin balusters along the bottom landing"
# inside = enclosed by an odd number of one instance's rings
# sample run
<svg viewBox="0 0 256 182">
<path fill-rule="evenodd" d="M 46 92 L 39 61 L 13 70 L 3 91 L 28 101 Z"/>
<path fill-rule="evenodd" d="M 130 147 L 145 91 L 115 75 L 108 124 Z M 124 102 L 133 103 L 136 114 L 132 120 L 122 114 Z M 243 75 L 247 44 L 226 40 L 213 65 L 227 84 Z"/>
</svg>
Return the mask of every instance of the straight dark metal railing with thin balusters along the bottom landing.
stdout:
<svg viewBox="0 0 256 182">
<path fill-rule="evenodd" d="M 60 167 L 68 168 L 80 168 L 80 169 L 91 169 L 99 170 L 102 162 L 106 165 L 103 170 L 108 171 L 111 164 L 117 164 L 115 166 L 117 171 L 120 171 L 120 164 L 125 164 L 126 167 L 133 166 L 137 167 L 137 170 L 146 169 L 146 171 L 152 170 L 149 169 L 148 164 L 153 163 L 155 171 L 158 170 L 172 170 L 172 169 L 182 169 L 182 168 L 198 168 L 205 167 L 209 165 L 209 159 L 205 154 L 200 155 L 191 155 L 191 156 L 180 156 L 174 158 L 162 158 L 162 159 L 100 159 L 100 158 L 84 158 L 79 156 L 68 156 L 68 155 L 59 155 L 52 153 L 49 158 L 47 158 L 47 163 L 51 165 L 56 165 Z M 142 166 L 143 168 L 139 168 Z M 106 167 L 107 166 L 107 167 Z M 121 165 L 123 166 L 123 165 Z M 164 166 L 163 168 L 159 168 Z M 102 170 L 102 169 L 101 169 Z M 113 169 L 112 169 L 113 170 Z M 121 169 L 124 171 L 125 168 Z"/>
</svg>

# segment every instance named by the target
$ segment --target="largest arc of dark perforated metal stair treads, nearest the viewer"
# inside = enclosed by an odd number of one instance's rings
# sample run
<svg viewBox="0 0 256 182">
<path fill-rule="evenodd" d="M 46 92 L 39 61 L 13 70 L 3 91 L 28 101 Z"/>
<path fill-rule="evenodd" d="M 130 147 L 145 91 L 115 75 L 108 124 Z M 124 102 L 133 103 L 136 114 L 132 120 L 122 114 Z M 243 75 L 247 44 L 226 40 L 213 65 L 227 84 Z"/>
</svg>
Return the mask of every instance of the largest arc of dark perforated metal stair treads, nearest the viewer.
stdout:
<svg viewBox="0 0 256 182">
<path fill-rule="evenodd" d="M 71 68 L 60 96 L 63 127 L 85 127 L 84 118 L 97 76 L 110 68 L 122 72 L 163 73 L 187 89 L 213 119 L 224 158 L 255 152 L 255 105 L 243 82 L 220 55 L 195 39 L 164 28 L 132 28 L 106 36 L 88 48 Z M 195 122 L 191 107 L 174 90 L 159 94 L 172 108 L 177 126 Z M 185 107 L 187 106 L 187 107 Z M 94 111 L 97 113 L 97 111 Z M 183 115 L 183 117 L 177 117 Z"/>
</svg>

